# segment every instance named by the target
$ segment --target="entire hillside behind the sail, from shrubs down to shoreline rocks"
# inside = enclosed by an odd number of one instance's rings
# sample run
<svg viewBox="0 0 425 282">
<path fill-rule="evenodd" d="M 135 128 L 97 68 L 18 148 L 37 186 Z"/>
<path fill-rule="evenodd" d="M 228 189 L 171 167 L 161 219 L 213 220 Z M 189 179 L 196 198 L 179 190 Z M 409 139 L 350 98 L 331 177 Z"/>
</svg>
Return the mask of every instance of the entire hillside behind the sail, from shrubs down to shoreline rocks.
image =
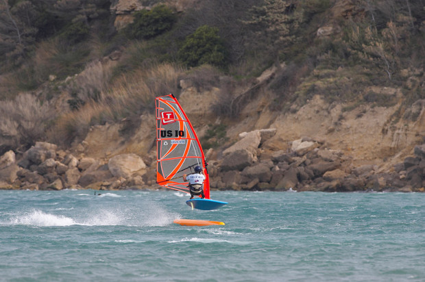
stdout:
<svg viewBox="0 0 425 282">
<path fill-rule="evenodd" d="M 145 2 L 1 4 L 1 187 L 156 188 L 172 92 L 215 189 L 424 192 L 422 1 Z"/>
</svg>

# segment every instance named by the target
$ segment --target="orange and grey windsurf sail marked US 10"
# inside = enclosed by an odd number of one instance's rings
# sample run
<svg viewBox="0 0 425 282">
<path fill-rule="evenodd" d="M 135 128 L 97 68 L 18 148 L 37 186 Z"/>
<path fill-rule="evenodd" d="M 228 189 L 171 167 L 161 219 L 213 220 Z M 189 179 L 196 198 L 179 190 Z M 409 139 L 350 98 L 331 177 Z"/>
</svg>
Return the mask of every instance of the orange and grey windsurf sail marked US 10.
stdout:
<svg viewBox="0 0 425 282">
<path fill-rule="evenodd" d="M 183 175 L 204 169 L 204 194 L 210 198 L 210 181 L 201 143 L 189 118 L 173 94 L 156 97 L 156 183 L 189 193 L 189 183 Z"/>
</svg>

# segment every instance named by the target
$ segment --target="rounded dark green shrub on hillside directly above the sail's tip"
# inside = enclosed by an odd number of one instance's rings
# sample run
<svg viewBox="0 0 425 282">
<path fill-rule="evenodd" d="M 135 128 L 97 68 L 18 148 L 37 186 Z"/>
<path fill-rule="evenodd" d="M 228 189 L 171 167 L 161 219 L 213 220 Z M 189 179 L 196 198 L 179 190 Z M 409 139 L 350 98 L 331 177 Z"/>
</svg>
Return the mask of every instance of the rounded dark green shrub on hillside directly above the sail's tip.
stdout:
<svg viewBox="0 0 425 282">
<path fill-rule="evenodd" d="M 186 37 L 182 48 L 178 51 L 179 59 L 187 66 L 212 64 L 226 66 L 227 55 L 223 40 L 218 36 L 216 27 L 203 25 Z"/>
</svg>

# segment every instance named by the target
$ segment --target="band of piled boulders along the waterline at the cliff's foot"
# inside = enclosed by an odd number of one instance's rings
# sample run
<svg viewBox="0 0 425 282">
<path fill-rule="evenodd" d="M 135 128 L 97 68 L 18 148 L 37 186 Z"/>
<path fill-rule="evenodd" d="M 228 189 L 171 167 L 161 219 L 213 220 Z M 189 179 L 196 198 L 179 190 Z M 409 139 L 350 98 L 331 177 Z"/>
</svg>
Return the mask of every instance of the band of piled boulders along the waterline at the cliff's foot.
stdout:
<svg viewBox="0 0 425 282">
<path fill-rule="evenodd" d="M 379 166 L 352 166 L 352 159 L 326 142 L 302 138 L 286 151 L 267 145 L 276 129 L 241 133 L 224 151 L 206 152 L 212 190 L 425 192 L 425 144 L 414 155 L 381 171 Z M 158 189 L 156 162 L 134 153 L 95 159 L 58 150 L 55 144 L 36 142 L 16 156 L 0 157 L 3 190 L 127 190 Z"/>
</svg>

